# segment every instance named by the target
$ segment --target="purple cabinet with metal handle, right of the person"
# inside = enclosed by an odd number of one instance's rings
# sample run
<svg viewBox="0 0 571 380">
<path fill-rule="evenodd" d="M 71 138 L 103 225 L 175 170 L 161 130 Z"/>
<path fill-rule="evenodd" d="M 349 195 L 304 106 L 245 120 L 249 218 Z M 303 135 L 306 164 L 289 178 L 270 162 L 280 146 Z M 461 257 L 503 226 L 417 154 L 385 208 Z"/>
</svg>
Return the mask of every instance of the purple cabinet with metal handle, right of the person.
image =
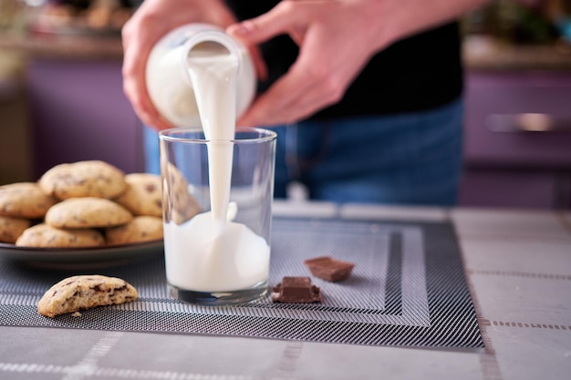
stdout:
<svg viewBox="0 0 571 380">
<path fill-rule="evenodd" d="M 465 206 L 568 208 L 571 72 L 467 76 Z"/>
</svg>

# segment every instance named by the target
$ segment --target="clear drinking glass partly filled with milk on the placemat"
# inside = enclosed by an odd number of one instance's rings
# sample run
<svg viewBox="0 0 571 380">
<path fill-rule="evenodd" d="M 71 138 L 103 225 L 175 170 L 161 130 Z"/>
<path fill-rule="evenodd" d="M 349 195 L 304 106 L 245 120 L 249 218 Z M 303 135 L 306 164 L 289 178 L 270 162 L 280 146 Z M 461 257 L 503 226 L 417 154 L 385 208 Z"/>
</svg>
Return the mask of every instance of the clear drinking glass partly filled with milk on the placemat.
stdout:
<svg viewBox="0 0 571 380">
<path fill-rule="evenodd" d="M 187 303 L 247 303 L 268 292 L 275 132 L 160 132 L 169 292 Z"/>
</svg>

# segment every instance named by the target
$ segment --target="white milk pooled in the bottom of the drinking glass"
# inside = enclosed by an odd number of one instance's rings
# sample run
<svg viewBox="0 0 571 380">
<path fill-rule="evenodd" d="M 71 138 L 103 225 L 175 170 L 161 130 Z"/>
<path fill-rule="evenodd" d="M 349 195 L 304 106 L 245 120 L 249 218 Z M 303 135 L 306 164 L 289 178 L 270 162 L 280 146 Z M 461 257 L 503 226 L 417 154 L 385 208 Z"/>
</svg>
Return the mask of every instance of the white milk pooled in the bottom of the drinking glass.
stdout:
<svg viewBox="0 0 571 380">
<path fill-rule="evenodd" d="M 245 289 L 267 279 L 270 248 L 242 223 L 223 225 L 204 212 L 181 226 L 165 225 L 167 278 L 171 285 L 197 292 Z"/>
</svg>

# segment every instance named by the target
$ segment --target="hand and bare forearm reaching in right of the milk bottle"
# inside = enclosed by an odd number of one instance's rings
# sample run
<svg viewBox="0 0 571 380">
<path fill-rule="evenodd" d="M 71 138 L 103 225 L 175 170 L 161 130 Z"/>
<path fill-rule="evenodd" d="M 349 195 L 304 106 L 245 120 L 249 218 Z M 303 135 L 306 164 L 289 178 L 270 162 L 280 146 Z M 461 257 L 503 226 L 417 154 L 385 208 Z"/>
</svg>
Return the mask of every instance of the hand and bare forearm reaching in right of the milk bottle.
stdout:
<svg viewBox="0 0 571 380">
<path fill-rule="evenodd" d="M 229 26 L 246 45 L 289 35 L 299 46 L 284 77 L 237 120 L 272 126 L 337 103 L 374 54 L 490 0 L 283 0 L 265 15 Z M 421 64 L 421 63 L 420 63 Z"/>
</svg>

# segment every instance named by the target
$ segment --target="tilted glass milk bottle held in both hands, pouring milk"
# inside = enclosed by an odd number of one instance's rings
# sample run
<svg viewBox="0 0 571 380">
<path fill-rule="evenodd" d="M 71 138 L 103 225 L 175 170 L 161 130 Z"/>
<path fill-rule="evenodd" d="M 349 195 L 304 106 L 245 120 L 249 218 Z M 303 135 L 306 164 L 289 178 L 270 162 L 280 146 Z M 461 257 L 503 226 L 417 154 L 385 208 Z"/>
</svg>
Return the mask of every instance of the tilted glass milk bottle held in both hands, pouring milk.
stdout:
<svg viewBox="0 0 571 380">
<path fill-rule="evenodd" d="M 197 50 L 198 49 L 198 50 Z M 255 95 L 254 63 L 247 48 L 218 26 L 190 24 L 171 30 L 153 46 L 147 61 L 147 90 L 155 108 L 176 127 L 200 127 L 188 56 L 200 50 L 228 52 L 238 57 L 236 116 L 251 104 Z"/>
</svg>

